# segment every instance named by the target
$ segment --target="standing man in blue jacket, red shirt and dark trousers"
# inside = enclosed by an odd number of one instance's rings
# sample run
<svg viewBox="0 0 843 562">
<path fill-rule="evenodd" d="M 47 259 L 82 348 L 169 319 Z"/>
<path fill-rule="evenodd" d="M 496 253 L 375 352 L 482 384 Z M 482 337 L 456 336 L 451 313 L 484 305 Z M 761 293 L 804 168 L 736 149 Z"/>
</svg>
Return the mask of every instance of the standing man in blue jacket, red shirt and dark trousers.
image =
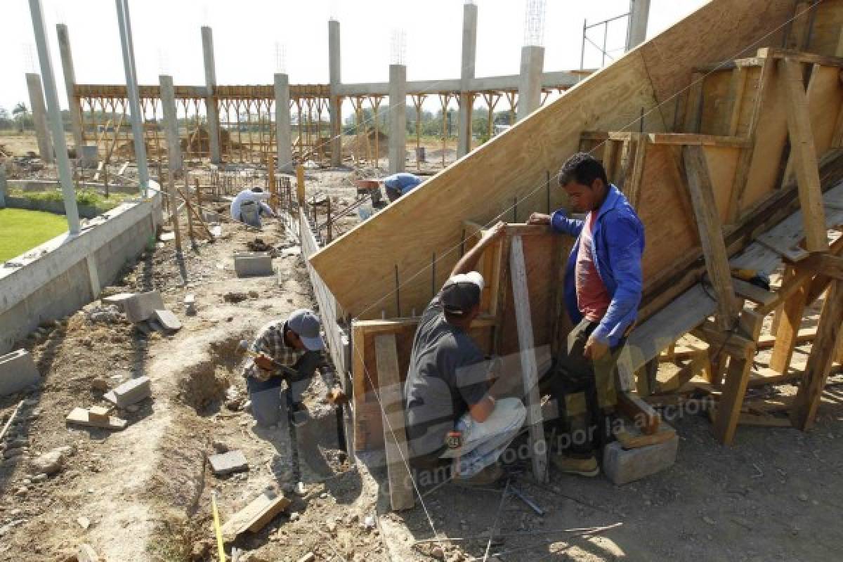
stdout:
<svg viewBox="0 0 843 562">
<path fill-rule="evenodd" d="M 562 166 L 559 185 L 584 220 L 534 213 L 530 224 L 549 224 L 556 233 L 577 237 L 565 272 L 565 302 L 576 327 L 568 335 L 550 374 L 564 446 L 552 458 L 562 472 L 599 474 L 594 448 L 615 408 L 615 362 L 635 324 L 642 297 L 644 227 L 626 197 L 609 184 L 603 165 L 577 153 Z"/>
</svg>

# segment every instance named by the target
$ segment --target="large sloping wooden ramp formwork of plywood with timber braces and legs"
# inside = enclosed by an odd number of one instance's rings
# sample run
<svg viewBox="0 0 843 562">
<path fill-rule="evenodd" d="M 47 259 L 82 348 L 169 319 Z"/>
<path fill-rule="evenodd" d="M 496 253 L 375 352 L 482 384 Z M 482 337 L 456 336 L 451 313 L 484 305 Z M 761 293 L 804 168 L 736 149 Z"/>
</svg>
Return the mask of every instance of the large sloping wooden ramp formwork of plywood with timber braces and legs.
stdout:
<svg viewBox="0 0 843 562">
<path fill-rule="evenodd" d="M 535 349 L 564 341 L 572 240 L 523 222 L 566 205 L 555 174 L 577 151 L 604 163 L 645 225 L 644 299 L 619 365 L 620 409 L 658 431 L 648 403 L 665 400 L 653 373 L 680 354 L 693 361 L 674 387 L 705 373 L 713 431 L 732 442 L 739 423 L 765 422 L 744 398 L 756 351 L 772 345 L 775 380 L 801 384 L 784 404 L 790 420 L 766 425 L 808 429 L 843 348 L 841 70 L 843 0 L 712 0 L 319 249 L 309 263 L 350 324 L 357 449 L 384 447 L 376 339 L 395 336 L 403 381 L 418 315 L 484 225 L 511 223 L 481 260 L 488 288 L 471 335 L 489 353 L 522 351 L 509 270 L 518 237 Z M 781 267 L 784 281 L 769 291 L 739 272 Z M 807 367 L 792 372 L 803 314 L 822 295 Z M 771 313 L 778 331 L 765 340 Z M 689 333 L 705 348 L 677 350 Z"/>
</svg>

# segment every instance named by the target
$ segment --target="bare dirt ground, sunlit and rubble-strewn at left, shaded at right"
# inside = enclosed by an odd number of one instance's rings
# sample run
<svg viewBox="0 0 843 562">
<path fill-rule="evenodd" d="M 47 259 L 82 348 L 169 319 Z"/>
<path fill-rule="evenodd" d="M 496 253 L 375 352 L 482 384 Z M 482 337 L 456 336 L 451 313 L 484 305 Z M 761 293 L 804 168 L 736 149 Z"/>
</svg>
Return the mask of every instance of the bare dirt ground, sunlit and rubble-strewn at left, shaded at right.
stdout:
<svg viewBox="0 0 843 562">
<path fill-rule="evenodd" d="M 309 177 L 309 197 L 336 197 L 341 206 L 353 201 L 349 172 L 314 170 Z M 358 220 L 352 214 L 343 227 Z M 722 447 L 711 436 L 706 412 L 689 409 L 668 420 L 680 438 L 674 467 L 632 484 L 615 486 L 603 476 L 577 478 L 552 468 L 549 484 L 535 484 L 528 464 L 509 466 L 512 485 L 543 516 L 516 497 L 502 502 L 501 489 L 450 484 L 423 488 L 423 503 L 389 513 L 383 459 L 365 454 L 352 463 L 340 450 L 336 415 L 325 397 L 336 383 L 330 370 L 320 371 L 309 388 L 309 420 L 299 428 L 295 448 L 285 428 L 261 431 L 247 411 L 235 353 L 239 340 L 294 308 L 315 307 L 300 256 L 280 252 L 277 276 L 234 275 L 232 254 L 255 238 L 279 250 L 295 247 L 277 222 L 260 233 L 225 223 L 223 237 L 213 244 L 194 251 L 185 242 L 186 281 L 167 242 L 127 265 L 105 290 L 104 296 L 158 289 L 183 324 L 175 335 L 147 335 L 94 302 L 22 342 L 44 382 L 0 399 L 0 424 L 24 400 L 0 446 L 0 560 L 69 560 L 81 543 L 111 562 L 213 560 L 212 493 L 225 522 L 267 488 L 293 503 L 258 533 L 234 543 L 244 553 L 241 562 L 295 561 L 308 553 L 316 560 L 454 562 L 483 559 L 487 549 L 507 562 L 838 558 L 839 368 L 808 433 L 740 426 L 733 447 Z M 182 304 L 187 293 L 196 295 L 194 316 Z M 809 350 L 797 349 L 797 367 Z M 768 355 L 757 357 L 759 370 Z M 152 379 L 153 398 L 117 412 L 128 420 L 126 430 L 66 426 L 72 408 L 105 404 L 105 388 L 142 375 Z M 787 395 L 794 389 L 785 384 L 754 392 Z M 72 447 L 62 468 L 46 479 L 31 474 L 30 461 L 56 447 Z M 244 452 L 248 472 L 212 474 L 208 455 L 226 448 Z M 592 538 L 563 532 L 618 523 Z M 443 551 L 436 543 L 414 545 L 432 538 L 432 527 L 451 539 L 441 543 Z M 492 528 L 500 538 L 489 544 Z"/>
</svg>

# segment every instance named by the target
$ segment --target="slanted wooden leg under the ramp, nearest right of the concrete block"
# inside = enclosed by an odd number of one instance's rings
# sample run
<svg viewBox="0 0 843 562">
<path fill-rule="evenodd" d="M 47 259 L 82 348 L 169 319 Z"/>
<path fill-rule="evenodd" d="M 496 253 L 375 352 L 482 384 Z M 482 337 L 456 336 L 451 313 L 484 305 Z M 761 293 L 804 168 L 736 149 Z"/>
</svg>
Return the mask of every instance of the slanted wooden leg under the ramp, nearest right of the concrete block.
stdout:
<svg viewBox="0 0 843 562">
<path fill-rule="evenodd" d="M 761 335 L 763 325 L 763 315 L 744 310 L 740 315 L 738 331 L 740 335 L 754 342 Z M 741 404 L 744 402 L 746 385 L 749 382 L 749 372 L 752 370 L 753 356 L 743 359 L 733 357 L 729 361 L 722 397 L 717 406 L 717 417 L 714 420 L 714 435 L 724 445 L 732 444 L 734 439 Z"/>
</svg>

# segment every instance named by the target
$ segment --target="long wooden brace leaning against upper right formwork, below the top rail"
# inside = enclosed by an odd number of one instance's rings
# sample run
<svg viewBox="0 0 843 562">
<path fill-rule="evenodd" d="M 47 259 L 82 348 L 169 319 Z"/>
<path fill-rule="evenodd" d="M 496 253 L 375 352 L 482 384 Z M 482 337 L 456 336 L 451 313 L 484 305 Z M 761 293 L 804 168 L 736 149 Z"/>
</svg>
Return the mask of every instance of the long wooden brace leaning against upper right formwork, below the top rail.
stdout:
<svg viewBox="0 0 843 562">
<path fill-rule="evenodd" d="M 787 101 L 787 131 L 791 139 L 793 168 L 797 176 L 799 203 L 803 209 L 805 246 L 809 252 L 829 248 L 825 233 L 823 194 L 819 188 L 819 165 L 811 131 L 811 116 L 799 62 L 779 62 L 779 79 Z"/>
</svg>

